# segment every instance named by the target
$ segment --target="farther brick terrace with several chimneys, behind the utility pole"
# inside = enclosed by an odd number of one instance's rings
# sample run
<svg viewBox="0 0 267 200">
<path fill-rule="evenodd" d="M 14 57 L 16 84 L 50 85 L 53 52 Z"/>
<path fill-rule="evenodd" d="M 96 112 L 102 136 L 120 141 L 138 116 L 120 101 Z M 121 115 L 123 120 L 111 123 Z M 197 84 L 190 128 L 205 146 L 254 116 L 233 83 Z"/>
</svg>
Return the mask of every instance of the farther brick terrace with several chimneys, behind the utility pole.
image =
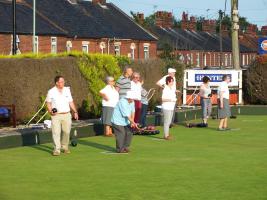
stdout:
<svg viewBox="0 0 267 200">
<path fill-rule="evenodd" d="M 221 61 L 223 67 L 232 67 L 232 41 L 226 27 L 223 27 L 222 31 L 221 54 L 220 37 L 216 34 L 216 21 L 204 20 L 203 31 L 197 31 L 195 17 L 189 18 L 185 12 L 182 14 L 181 28 L 173 28 L 173 25 L 170 25 L 171 13 L 158 11 L 155 16 L 156 26 L 151 31 L 159 38 L 158 54 L 162 52 L 164 45 L 168 44 L 173 54 L 187 65 L 199 68 L 218 67 Z M 166 18 L 168 20 L 165 25 L 164 19 Z M 256 54 L 257 51 L 254 49 L 240 44 L 241 66 L 249 65 L 255 59 Z"/>
</svg>

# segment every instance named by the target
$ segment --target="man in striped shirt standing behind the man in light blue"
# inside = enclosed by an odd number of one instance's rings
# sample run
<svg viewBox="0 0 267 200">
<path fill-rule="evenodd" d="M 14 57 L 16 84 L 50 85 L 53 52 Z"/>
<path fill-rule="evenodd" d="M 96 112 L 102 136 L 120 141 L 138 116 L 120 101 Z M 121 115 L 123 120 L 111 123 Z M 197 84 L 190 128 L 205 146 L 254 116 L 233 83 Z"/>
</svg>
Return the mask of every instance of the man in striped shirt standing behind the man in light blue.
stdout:
<svg viewBox="0 0 267 200">
<path fill-rule="evenodd" d="M 120 98 L 125 97 L 127 91 L 131 90 L 131 76 L 133 70 L 131 67 L 125 67 L 123 70 L 123 75 L 119 77 L 116 82 L 116 89 L 119 92 Z"/>
</svg>

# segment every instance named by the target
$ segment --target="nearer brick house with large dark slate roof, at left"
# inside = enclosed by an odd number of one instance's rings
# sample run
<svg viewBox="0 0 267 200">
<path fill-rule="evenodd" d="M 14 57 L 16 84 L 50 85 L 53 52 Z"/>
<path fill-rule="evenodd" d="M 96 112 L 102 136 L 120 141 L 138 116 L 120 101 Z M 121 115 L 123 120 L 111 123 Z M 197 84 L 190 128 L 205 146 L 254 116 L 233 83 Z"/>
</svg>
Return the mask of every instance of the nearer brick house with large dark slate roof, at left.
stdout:
<svg viewBox="0 0 267 200">
<path fill-rule="evenodd" d="M 18 46 L 20 52 L 27 53 L 32 51 L 32 0 L 17 2 Z M 0 12 L 0 54 L 9 54 L 12 42 L 11 1 L 0 0 L 1 10 L 5 12 L 4 16 Z M 36 10 L 38 52 L 77 50 L 125 55 L 132 59 L 157 56 L 157 38 L 105 0 L 36 1 Z"/>
</svg>

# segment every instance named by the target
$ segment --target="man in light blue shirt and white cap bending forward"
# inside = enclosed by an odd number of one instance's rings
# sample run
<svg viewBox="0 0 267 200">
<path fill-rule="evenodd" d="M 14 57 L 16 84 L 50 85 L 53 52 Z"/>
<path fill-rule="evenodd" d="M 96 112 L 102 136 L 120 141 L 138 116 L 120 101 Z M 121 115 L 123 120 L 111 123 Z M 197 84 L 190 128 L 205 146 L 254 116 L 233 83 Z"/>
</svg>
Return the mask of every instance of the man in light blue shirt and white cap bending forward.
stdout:
<svg viewBox="0 0 267 200">
<path fill-rule="evenodd" d="M 116 137 L 116 150 L 118 153 L 128 153 L 133 133 L 131 127 L 137 127 L 134 122 L 134 94 L 128 91 L 116 105 L 111 119 Z"/>
</svg>

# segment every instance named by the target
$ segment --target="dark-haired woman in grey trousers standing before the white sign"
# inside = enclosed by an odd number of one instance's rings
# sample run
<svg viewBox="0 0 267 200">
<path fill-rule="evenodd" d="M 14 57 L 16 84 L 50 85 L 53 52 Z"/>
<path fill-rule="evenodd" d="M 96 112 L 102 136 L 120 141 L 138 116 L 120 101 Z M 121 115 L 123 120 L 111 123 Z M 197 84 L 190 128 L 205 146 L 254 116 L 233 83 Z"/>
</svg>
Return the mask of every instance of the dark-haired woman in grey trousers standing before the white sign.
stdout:
<svg viewBox="0 0 267 200">
<path fill-rule="evenodd" d="M 200 96 L 200 103 L 202 108 L 202 119 L 203 123 L 207 126 L 208 125 L 208 118 L 211 115 L 211 89 L 210 89 L 210 78 L 204 76 L 202 79 L 202 84 L 200 86 L 199 96 Z"/>
</svg>

